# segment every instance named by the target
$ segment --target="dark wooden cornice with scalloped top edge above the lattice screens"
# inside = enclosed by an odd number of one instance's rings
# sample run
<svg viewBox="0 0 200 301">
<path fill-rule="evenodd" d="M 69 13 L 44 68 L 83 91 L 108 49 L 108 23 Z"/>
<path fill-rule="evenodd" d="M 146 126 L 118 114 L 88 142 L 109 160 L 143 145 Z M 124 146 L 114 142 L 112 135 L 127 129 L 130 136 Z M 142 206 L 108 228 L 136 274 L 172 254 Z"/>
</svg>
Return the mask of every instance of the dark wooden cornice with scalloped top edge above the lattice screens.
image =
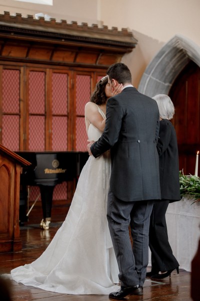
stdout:
<svg viewBox="0 0 200 301">
<path fill-rule="evenodd" d="M 38 61 L 56 65 L 108 67 L 137 44 L 127 29 L 91 27 L 86 23 L 49 22 L 33 16 L 0 15 L 1 56 L 15 62 Z"/>
</svg>

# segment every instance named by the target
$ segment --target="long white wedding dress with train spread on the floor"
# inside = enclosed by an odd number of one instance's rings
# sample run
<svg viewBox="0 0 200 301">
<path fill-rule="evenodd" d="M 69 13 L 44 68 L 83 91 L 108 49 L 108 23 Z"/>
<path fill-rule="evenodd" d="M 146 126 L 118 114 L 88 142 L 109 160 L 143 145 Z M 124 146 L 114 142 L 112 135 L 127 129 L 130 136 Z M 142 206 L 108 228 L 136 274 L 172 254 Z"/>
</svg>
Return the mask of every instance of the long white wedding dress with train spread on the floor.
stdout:
<svg viewBox="0 0 200 301">
<path fill-rule="evenodd" d="M 105 115 L 98 107 L 99 113 Z M 92 124 L 88 139 L 101 132 Z M 109 294 L 119 289 L 118 266 L 106 220 L 109 153 L 89 157 L 66 219 L 39 258 L 11 270 L 17 282 L 67 294 Z"/>
</svg>

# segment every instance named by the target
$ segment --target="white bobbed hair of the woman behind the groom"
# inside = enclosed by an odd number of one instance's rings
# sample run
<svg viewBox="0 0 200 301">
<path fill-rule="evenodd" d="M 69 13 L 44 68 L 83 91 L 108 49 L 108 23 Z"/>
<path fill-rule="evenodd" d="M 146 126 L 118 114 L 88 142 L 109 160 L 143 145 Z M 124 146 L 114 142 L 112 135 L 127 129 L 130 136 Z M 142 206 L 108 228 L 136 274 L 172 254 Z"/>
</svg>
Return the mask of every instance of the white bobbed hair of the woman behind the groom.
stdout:
<svg viewBox="0 0 200 301">
<path fill-rule="evenodd" d="M 168 95 L 158 94 L 152 97 L 156 102 L 161 119 L 172 119 L 174 115 L 174 105 Z"/>
</svg>

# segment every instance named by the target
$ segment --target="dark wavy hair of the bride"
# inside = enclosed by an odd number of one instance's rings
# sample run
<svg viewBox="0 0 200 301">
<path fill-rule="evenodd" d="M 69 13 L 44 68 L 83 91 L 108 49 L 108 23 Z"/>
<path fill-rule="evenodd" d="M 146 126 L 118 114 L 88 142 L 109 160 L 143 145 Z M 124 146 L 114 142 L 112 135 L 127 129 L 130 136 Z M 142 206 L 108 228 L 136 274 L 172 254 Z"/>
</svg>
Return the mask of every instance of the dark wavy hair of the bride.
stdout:
<svg viewBox="0 0 200 301">
<path fill-rule="evenodd" d="M 107 96 L 105 95 L 105 86 L 107 84 L 107 75 L 101 78 L 95 87 L 94 92 L 91 94 L 90 101 L 95 104 L 101 105 L 107 101 Z"/>
</svg>

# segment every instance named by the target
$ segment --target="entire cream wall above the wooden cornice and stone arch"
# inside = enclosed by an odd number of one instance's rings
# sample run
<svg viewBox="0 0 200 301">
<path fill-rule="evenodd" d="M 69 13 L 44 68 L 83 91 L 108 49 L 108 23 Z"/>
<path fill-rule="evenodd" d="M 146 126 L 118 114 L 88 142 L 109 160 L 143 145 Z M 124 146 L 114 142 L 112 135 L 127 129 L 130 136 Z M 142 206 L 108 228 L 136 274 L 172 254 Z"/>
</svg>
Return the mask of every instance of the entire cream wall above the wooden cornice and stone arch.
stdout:
<svg viewBox="0 0 200 301">
<path fill-rule="evenodd" d="M 130 68 L 135 87 L 148 63 L 174 35 L 200 46 L 200 0 L 53 0 L 53 6 L 0 0 L 0 14 L 3 11 L 23 16 L 41 12 L 67 23 L 127 28 L 138 44 L 122 62 Z"/>
</svg>

